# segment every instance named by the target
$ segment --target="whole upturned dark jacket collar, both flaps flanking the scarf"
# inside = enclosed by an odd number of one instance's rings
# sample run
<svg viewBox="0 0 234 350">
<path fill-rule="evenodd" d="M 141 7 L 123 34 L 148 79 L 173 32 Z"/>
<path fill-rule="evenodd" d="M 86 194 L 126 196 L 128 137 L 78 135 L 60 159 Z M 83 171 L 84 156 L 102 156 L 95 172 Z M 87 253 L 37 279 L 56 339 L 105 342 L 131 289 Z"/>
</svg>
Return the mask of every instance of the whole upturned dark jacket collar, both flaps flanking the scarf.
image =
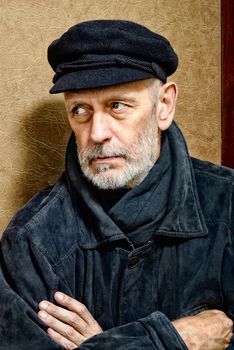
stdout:
<svg viewBox="0 0 234 350">
<path fill-rule="evenodd" d="M 207 228 L 199 204 L 191 160 L 183 135 L 175 123 L 166 131 L 166 137 L 172 166 L 170 190 L 164 215 L 151 233 L 178 238 L 205 236 Z M 130 243 L 128 236 L 99 204 L 93 186 L 84 178 L 77 159 L 74 135 L 68 143 L 66 174 L 74 207 L 79 214 L 77 224 L 81 232 L 80 245 L 91 249 L 116 240 L 127 240 Z M 133 190 L 127 195 L 131 195 Z M 147 227 L 140 229 L 142 235 Z"/>
</svg>

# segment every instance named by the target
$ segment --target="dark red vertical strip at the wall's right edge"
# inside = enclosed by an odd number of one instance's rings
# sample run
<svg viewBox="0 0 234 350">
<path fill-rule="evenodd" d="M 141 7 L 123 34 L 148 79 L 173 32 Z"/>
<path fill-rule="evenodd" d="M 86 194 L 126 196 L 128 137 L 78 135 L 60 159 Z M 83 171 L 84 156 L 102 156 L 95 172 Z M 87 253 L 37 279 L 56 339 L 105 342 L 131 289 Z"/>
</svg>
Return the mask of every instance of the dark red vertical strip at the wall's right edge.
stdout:
<svg viewBox="0 0 234 350">
<path fill-rule="evenodd" d="M 234 1 L 222 0 L 222 165 L 234 168 Z"/>
</svg>

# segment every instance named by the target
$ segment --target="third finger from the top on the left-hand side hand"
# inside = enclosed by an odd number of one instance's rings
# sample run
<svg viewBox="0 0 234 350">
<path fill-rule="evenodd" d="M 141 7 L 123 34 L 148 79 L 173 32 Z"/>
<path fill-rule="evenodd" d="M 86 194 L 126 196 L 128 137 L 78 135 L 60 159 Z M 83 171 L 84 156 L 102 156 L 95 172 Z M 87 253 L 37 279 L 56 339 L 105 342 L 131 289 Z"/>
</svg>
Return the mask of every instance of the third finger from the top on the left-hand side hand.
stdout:
<svg viewBox="0 0 234 350">
<path fill-rule="evenodd" d="M 59 321 L 45 311 L 39 311 L 38 316 L 49 328 L 52 328 L 55 332 L 75 344 L 79 345 L 86 339 L 73 327 Z"/>
</svg>

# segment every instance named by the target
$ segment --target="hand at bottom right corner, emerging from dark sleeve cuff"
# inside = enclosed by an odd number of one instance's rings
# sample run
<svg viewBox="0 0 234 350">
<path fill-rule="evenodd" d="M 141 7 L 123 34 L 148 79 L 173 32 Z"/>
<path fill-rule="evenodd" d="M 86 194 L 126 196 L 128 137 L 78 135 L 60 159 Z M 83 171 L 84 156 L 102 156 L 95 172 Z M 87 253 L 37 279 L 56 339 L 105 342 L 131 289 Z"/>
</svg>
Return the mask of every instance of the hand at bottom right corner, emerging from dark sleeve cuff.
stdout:
<svg viewBox="0 0 234 350">
<path fill-rule="evenodd" d="M 223 350 L 233 336 L 233 322 L 219 310 L 203 311 L 172 323 L 189 350 Z"/>
</svg>

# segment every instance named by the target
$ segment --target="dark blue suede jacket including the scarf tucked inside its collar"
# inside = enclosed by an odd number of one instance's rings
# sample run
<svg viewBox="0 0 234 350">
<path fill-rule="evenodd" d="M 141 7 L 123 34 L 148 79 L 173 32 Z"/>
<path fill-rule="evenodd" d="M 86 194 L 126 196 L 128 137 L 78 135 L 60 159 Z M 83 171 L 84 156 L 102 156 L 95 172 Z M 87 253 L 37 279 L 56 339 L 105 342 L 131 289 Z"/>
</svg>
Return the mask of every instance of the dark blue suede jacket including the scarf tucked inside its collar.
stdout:
<svg viewBox="0 0 234 350">
<path fill-rule="evenodd" d="M 145 180 L 104 209 L 72 137 L 57 184 L 3 235 L 0 350 L 61 349 L 37 316 L 57 290 L 104 329 L 81 350 L 186 350 L 172 320 L 211 308 L 234 319 L 233 180 L 190 158 L 173 123 Z"/>
</svg>

